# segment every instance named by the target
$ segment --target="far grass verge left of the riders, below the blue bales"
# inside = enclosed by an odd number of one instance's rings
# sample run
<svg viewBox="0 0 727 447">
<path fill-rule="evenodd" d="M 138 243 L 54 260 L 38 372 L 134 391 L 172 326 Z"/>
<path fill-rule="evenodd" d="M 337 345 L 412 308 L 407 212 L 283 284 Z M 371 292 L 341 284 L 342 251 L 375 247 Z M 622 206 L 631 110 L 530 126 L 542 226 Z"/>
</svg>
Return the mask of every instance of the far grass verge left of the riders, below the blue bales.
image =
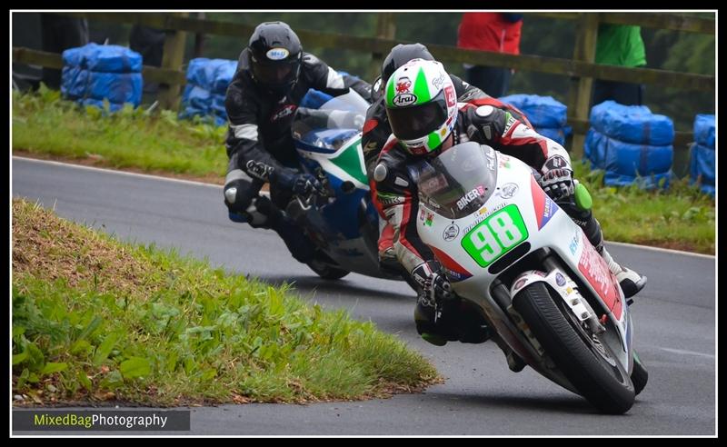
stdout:
<svg viewBox="0 0 727 447">
<path fill-rule="evenodd" d="M 224 178 L 225 131 L 199 121 L 178 121 L 169 111 L 148 114 L 129 104 L 115 114 L 94 106 L 81 108 L 45 87 L 38 94 L 13 92 L 13 149 L 31 154 Z"/>
</svg>

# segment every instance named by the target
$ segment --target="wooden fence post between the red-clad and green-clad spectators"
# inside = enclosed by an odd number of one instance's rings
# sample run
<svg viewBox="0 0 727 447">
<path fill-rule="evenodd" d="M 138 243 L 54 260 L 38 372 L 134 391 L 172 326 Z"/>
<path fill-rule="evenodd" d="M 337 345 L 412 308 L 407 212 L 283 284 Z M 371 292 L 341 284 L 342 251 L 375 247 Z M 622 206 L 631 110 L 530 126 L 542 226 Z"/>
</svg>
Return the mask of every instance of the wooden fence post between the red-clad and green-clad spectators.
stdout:
<svg viewBox="0 0 727 447">
<path fill-rule="evenodd" d="M 578 28 L 575 37 L 575 50 L 573 60 L 593 64 L 596 59 L 596 38 L 598 37 L 598 13 L 580 13 Z M 568 114 L 570 118 L 588 120 L 591 113 L 591 91 L 593 78 L 572 77 L 571 88 L 568 92 Z M 583 158 L 583 144 L 585 134 L 573 132 L 571 143 L 571 158 Z"/>
</svg>

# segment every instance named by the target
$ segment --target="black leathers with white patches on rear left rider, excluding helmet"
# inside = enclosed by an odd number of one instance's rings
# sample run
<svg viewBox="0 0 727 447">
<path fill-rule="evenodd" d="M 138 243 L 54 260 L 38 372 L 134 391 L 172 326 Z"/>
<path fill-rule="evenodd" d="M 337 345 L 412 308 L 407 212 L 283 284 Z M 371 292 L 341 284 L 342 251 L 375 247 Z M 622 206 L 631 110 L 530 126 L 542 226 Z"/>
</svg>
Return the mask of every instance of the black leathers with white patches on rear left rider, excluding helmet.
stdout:
<svg viewBox="0 0 727 447">
<path fill-rule="evenodd" d="M 369 84 L 354 76 L 342 76 L 314 55 L 303 53 L 297 81 L 286 94 L 276 94 L 255 82 L 250 50 L 245 48 L 227 88 L 229 129 L 225 145 L 229 164 L 224 200 L 230 219 L 273 229 L 303 263 L 311 260 L 312 244 L 281 211 L 294 190 L 303 191 L 315 182 L 312 175 L 300 174 L 291 135 L 294 113 L 311 88 L 338 96 L 348 93 L 349 87 L 364 99 L 371 97 Z M 266 182 L 270 182 L 270 200 L 259 196 Z"/>
</svg>

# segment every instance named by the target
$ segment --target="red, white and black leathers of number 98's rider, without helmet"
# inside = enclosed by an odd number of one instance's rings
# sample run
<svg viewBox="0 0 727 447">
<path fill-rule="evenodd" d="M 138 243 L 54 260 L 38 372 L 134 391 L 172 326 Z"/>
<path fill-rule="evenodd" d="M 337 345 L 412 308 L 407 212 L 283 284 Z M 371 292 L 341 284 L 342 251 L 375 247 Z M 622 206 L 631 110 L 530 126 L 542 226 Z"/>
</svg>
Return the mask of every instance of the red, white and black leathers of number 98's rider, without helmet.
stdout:
<svg viewBox="0 0 727 447">
<path fill-rule="evenodd" d="M 537 134 L 507 110 L 491 105 L 459 104 L 453 133 L 443 145 L 450 147 L 467 141 L 488 144 L 495 150 L 530 165 L 537 171 L 534 173 L 536 176 L 543 174 L 540 180 L 543 190 L 581 226 L 599 253 L 605 253 L 601 227 L 593 213 L 579 208 L 573 200 L 573 171 L 570 157 L 563 146 Z M 434 294 L 446 296 L 446 287 L 449 284 L 432 251 L 421 241 L 416 229 L 418 193 L 408 174 L 407 165 L 419 159 L 421 158 L 403 150 L 392 135 L 383 146 L 373 172 L 377 200 L 393 227 L 393 251 L 398 261 L 424 291 L 436 291 Z M 610 256 L 606 260 L 609 261 L 609 258 Z M 466 318 L 467 313 L 459 309 L 462 303 L 462 300 L 443 300 L 437 303 L 433 296 L 420 293 L 414 313 L 417 331 L 424 338 L 432 333 L 442 336 L 443 343 L 446 340 L 466 341 L 463 340 L 462 333 L 465 324 L 460 320 Z M 450 310 L 447 310 L 447 306 L 450 306 Z M 443 344 L 429 338 L 427 340 L 434 344 Z"/>
</svg>

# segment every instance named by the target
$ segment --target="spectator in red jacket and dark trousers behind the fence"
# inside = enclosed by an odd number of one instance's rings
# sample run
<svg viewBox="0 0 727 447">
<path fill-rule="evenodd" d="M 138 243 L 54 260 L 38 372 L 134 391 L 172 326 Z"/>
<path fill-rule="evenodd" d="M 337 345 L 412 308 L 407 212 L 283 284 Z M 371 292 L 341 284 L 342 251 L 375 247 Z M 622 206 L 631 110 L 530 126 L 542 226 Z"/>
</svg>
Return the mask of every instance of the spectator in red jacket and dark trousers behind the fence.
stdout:
<svg viewBox="0 0 727 447">
<path fill-rule="evenodd" d="M 522 14 L 464 13 L 460 23 L 457 46 L 497 53 L 520 54 Z M 506 67 L 464 65 L 467 82 L 494 97 L 504 96 L 513 77 Z"/>
</svg>

